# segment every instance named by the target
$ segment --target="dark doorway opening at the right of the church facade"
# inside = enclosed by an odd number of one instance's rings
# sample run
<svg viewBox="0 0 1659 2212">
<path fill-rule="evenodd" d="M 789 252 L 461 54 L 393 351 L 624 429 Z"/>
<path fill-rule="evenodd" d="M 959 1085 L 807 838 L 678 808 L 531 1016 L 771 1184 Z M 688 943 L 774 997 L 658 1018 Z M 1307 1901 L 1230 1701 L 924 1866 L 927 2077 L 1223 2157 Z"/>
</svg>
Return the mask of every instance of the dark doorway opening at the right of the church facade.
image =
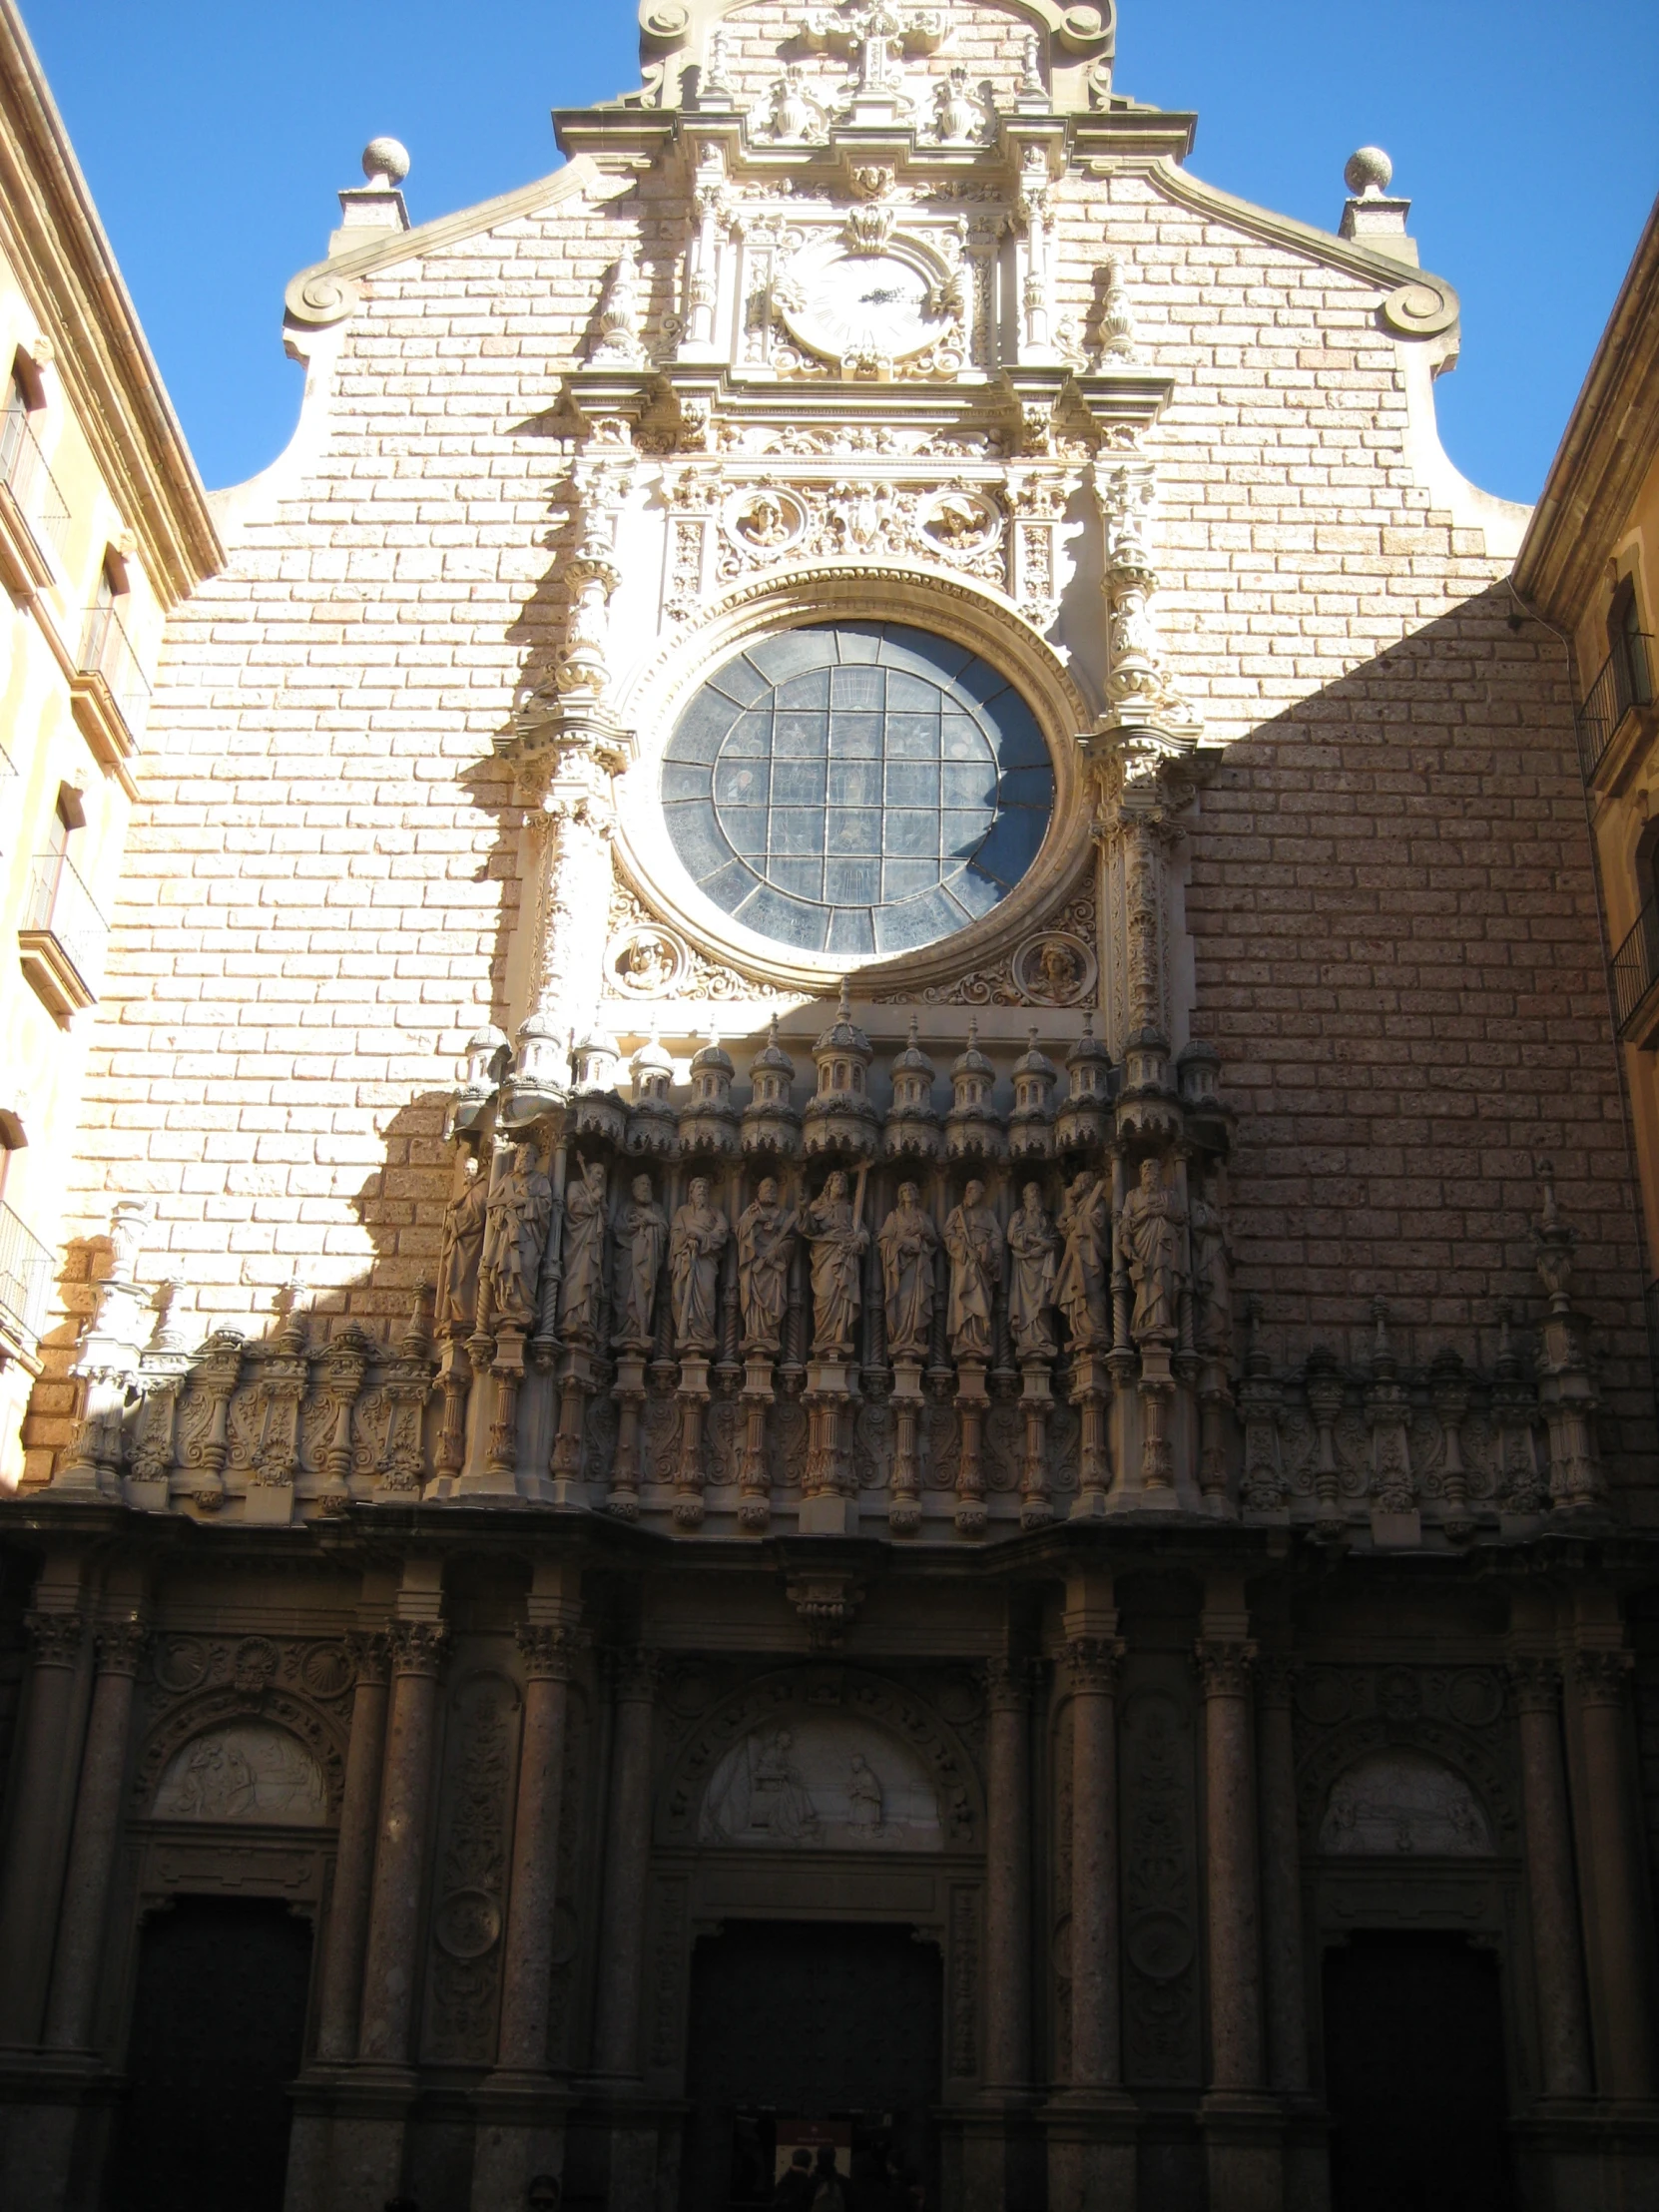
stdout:
<svg viewBox="0 0 1659 2212">
<path fill-rule="evenodd" d="M 1332 2212 L 1513 2212 L 1498 1960 L 1460 1936 L 1325 1953 Z"/>
</svg>

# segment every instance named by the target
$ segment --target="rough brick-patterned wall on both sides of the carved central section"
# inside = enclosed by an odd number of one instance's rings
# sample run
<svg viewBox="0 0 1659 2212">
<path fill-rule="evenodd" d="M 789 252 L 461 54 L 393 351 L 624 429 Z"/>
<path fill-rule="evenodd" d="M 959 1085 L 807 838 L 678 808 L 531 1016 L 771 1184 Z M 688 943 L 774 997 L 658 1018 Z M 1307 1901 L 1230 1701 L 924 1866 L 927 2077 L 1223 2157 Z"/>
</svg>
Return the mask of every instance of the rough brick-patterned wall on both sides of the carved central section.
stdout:
<svg viewBox="0 0 1659 2212">
<path fill-rule="evenodd" d="M 1641 1254 L 1553 639 L 1429 509 L 1378 290 L 1168 201 L 1071 179 L 1062 305 L 1124 259 L 1148 358 L 1161 619 L 1230 752 L 1190 838 L 1194 1031 L 1239 1106 L 1241 1287 L 1270 1343 L 1491 1356 L 1540 1312 L 1533 1155 L 1582 1230 L 1617 1478 L 1650 1480 Z M 655 312 L 679 204 L 573 199 L 385 270 L 330 438 L 173 622 L 115 909 L 58 1360 L 115 1194 L 146 1279 L 259 1332 L 299 1272 L 387 1327 L 440 1241 L 442 1095 L 507 1020 L 518 818 L 491 759 L 557 630 L 562 367 L 637 226 Z M 1095 619 L 1086 611 L 1082 619 Z M 66 1387 L 35 1394 L 44 1473 Z M 1635 1500 L 1648 1511 L 1648 1498 Z M 1659 1500 L 1655 1500 L 1659 1509 Z"/>
</svg>

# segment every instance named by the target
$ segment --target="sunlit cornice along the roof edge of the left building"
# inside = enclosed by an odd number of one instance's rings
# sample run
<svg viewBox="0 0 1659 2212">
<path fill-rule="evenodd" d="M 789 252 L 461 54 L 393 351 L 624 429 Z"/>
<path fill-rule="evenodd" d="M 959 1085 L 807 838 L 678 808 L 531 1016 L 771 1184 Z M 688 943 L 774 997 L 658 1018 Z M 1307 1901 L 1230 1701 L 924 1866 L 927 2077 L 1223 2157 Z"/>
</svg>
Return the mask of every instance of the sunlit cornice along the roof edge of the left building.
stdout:
<svg viewBox="0 0 1659 2212">
<path fill-rule="evenodd" d="M 75 148 L 11 0 L 0 0 L 0 252 L 93 460 L 173 606 L 223 566 L 208 493 L 144 338 Z"/>
</svg>

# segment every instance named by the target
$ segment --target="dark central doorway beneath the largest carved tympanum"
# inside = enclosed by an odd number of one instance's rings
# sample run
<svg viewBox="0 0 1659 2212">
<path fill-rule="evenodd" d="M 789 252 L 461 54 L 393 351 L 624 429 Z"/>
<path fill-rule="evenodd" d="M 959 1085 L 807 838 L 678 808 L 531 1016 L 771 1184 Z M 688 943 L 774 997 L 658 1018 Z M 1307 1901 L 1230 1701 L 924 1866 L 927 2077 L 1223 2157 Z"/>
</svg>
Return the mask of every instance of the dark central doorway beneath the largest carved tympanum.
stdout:
<svg viewBox="0 0 1659 2212">
<path fill-rule="evenodd" d="M 761 1920 L 703 1938 L 681 2212 L 770 2203 L 796 2146 L 834 2150 L 858 2212 L 898 2212 L 905 2174 L 938 2203 L 940 2015 L 940 1953 L 902 1927 Z"/>
</svg>

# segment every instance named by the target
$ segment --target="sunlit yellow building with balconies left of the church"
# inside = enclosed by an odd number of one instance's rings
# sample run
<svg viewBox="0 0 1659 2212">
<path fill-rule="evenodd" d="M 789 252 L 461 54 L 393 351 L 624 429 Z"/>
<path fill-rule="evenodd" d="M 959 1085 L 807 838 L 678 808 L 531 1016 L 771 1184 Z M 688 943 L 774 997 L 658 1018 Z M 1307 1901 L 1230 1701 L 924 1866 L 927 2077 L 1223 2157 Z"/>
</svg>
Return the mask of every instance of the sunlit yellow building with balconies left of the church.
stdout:
<svg viewBox="0 0 1659 2212">
<path fill-rule="evenodd" d="M 161 624 L 219 564 L 86 179 L 0 4 L 0 1482 L 75 1157 L 91 1009 L 144 761 Z M 131 1212 L 131 1210 L 128 1210 Z M 126 1219 L 126 1214 L 124 1214 Z"/>
</svg>

